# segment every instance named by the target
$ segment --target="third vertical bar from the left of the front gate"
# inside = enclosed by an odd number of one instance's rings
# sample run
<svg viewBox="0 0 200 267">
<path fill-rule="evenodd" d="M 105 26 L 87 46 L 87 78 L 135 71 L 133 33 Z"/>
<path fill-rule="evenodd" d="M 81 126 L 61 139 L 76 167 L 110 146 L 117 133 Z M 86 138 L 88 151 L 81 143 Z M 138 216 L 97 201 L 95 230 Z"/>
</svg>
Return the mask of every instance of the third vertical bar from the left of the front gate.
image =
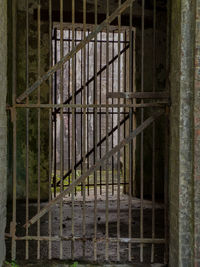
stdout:
<svg viewBox="0 0 200 267">
<path fill-rule="evenodd" d="M 41 65 L 41 54 L 40 54 L 40 44 L 41 44 L 41 32 L 40 32 L 40 12 L 41 12 L 41 6 L 40 6 L 40 0 L 38 0 L 38 7 L 37 7 L 37 12 L 38 12 L 38 21 L 37 21 L 37 32 L 38 32 L 38 79 L 40 78 L 40 65 Z M 38 104 L 40 104 L 40 86 L 38 86 Z M 41 110 L 40 108 L 38 108 L 38 196 L 37 196 L 37 212 L 40 212 L 40 152 L 41 152 L 41 131 L 40 131 L 40 127 L 41 127 Z M 40 237 L 40 219 L 37 222 L 37 236 L 38 238 Z M 40 240 L 38 240 L 37 242 L 37 259 L 40 259 Z"/>
</svg>

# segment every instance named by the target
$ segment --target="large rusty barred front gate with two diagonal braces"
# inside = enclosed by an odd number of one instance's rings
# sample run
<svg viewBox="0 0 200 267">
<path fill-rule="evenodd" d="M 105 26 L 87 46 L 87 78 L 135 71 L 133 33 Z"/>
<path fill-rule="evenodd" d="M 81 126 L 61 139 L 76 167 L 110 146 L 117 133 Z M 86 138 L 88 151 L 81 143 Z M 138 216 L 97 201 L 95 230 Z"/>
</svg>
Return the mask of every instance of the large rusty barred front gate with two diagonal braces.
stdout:
<svg viewBox="0 0 200 267">
<path fill-rule="evenodd" d="M 162 262 L 168 260 L 167 172 L 168 104 L 167 91 L 144 91 L 144 7 L 141 9 L 141 84 L 135 84 L 135 39 L 133 0 L 118 1 L 106 17 L 99 18 L 94 0 L 94 22 L 87 22 L 87 1 L 83 0 L 82 24 L 76 23 L 77 2 L 71 2 L 72 23 L 64 22 L 63 0 L 60 22 L 53 20 L 53 2 L 47 1 L 49 26 L 49 70 L 41 73 L 42 1 L 36 8 L 37 79 L 30 84 L 29 1 L 26 1 L 26 89 L 18 94 L 16 83 L 16 1 L 13 1 L 13 102 L 9 107 L 13 124 L 13 211 L 10 226 L 12 259 L 23 257 L 70 259 L 89 262 Z M 122 26 L 126 13 L 129 26 Z M 153 72 L 156 57 L 156 1 L 153 19 Z M 117 20 L 116 25 L 114 21 Z M 155 76 L 155 75 L 154 75 Z M 48 99 L 42 97 L 48 85 Z M 18 118 L 24 112 L 26 181 L 24 217 L 18 223 Z M 33 112 L 34 115 L 30 115 Z M 35 113 L 34 113 L 35 112 Z M 48 114 L 48 117 L 45 117 Z M 23 116 L 23 115 L 21 115 Z M 30 118 L 34 117 L 36 124 Z M 139 118 L 139 120 L 138 120 Z M 165 162 L 164 203 L 156 202 L 156 120 L 164 121 Z M 48 121 L 46 127 L 45 120 Z M 140 121 L 140 123 L 138 123 Z M 36 126 L 35 126 L 36 125 Z M 136 126 L 137 125 L 137 126 Z M 46 128 L 45 128 L 46 127 Z M 36 129 L 35 129 L 36 128 Z M 144 199 L 144 131 L 152 132 L 152 193 Z M 37 168 L 36 204 L 30 202 L 30 131 L 35 131 Z M 48 136 L 43 155 L 43 131 Z M 136 139 L 139 137 L 139 139 Z M 140 192 L 134 195 L 136 141 L 140 143 Z M 41 166 L 48 161 L 46 191 L 42 201 Z M 45 165 L 46 166 L 46 165 Z M 159 215 L 160 214 L 160 215 Z M 156 216 L 162 229 L 157 233 Z M 149 226 L 150 224 L 150 226 Z M 21 243 L 20 243 L 21 242 Z"/>
</svg>

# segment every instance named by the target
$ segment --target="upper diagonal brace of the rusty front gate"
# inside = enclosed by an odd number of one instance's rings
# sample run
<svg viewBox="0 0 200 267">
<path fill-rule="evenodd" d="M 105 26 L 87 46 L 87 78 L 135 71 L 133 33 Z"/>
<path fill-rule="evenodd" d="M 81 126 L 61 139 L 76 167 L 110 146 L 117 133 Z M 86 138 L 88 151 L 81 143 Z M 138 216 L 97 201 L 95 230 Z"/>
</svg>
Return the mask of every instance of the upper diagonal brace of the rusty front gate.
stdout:
<svg viewBox="0 0 200 267">
<path fill-rule="evenodd" d="M 29 94 L 31 94 L 35 89 L 38 88 L 39 85 L 41 85 L 44 81 L 46 81 L 49 76 L 51 76 L 55 71 L 60 69 L 62 65 L 68 61 L 69 59 L 73 58 L 73 56 L 81 50 L 87 43 L 89 43 L 93 38 L 96 37 L 96 35 L 101 32 L 108 24 L 110 24 L 118 15 L 120 15 L 122 12 L 124 12 L 129 5 L 134 0 L 126 0 L 119 8 L 117 8 L 109 17 L 107 17 L 100 25 L 98 25 L 94 31 L 92 31 L 82 42 L 80 42 L 76 47 L 73 47 L 73 49 L 65 55 L 63 58 L 60 59 L 60 61 L 55 64 L 48 72 L 46 72 L 40 79 L 38 79 L 31 87 L 29 87 L 23 94 L 21 94 L 17 98 L 17 102 L 20 103 L 23 101 Z M 73 17 L 73 16 L 72 16 Z M 72 26 L 74 26 L 72 24 Z M 73 39 L 73 38 L 72 38 Z"/>
</svg>

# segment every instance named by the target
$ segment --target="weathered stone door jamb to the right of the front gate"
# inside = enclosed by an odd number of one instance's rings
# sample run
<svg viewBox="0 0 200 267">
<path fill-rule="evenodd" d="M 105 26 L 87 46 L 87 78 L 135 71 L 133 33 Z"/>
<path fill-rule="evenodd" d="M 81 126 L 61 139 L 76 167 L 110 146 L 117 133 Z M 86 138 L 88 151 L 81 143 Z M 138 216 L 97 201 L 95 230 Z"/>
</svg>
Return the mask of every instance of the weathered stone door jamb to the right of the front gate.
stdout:
<svg viewBox="0 0 200 267">
<path fill-rule="evenodd" d="M 194 2 L 171 1 L 170 266 L 193 265 Z"/>
</svg>

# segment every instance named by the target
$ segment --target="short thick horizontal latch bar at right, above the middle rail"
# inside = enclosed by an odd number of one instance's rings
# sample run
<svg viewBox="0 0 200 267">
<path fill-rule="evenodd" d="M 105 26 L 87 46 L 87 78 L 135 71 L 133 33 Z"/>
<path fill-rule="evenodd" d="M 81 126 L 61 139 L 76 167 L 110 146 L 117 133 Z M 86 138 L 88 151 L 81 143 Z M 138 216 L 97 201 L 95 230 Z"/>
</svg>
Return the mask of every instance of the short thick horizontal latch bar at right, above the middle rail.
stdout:
<svg viewBox="0 0 200 267">
<path fill-rule="evenodd" d="M 169 92 L 110 92 L 108 98 L 138 98 L 138 99 L 165 99 L 169 98 Z"/>
</svg>

